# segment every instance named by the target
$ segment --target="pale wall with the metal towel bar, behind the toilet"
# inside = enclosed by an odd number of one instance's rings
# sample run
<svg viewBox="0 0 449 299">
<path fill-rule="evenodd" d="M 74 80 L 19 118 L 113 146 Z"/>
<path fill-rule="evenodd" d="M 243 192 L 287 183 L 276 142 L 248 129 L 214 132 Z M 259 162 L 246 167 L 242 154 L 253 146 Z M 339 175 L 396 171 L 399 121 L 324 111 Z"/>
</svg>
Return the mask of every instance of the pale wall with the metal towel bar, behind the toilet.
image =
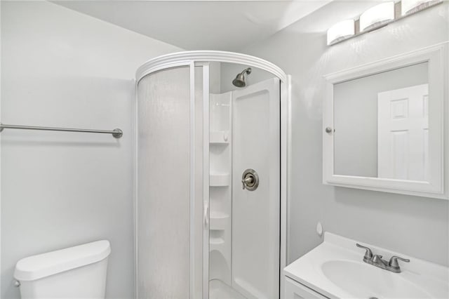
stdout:
<svg viewBox="0 0 449 299">
<path fill-rule="evenodd" d="M 1 133 L 0 297 L 18 298 L 20 258 L 109 239 L 107 297 L 132 298 L 132 79 L 181 49 L 48 2 L 1 6 L 1 122 L 124 135 Z"/>
</svg>

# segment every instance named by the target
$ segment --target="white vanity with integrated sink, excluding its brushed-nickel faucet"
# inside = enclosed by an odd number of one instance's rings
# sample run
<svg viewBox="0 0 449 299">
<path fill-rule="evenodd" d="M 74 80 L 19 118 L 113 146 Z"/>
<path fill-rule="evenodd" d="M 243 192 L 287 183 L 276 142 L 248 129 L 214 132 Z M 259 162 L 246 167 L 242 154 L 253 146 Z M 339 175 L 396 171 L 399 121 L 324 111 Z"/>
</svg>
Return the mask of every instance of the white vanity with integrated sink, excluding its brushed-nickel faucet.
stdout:
<svg viewBox="0 0 449 299">
<path fill-rule="evenodd" d="M 363 261 L 373 256 L 398 256 L 400 272 Z M 322 244 L 284 268 L 286 299 L 449 298 L 449 268 L 394 251 L 325 232 Z"/>
</svg>

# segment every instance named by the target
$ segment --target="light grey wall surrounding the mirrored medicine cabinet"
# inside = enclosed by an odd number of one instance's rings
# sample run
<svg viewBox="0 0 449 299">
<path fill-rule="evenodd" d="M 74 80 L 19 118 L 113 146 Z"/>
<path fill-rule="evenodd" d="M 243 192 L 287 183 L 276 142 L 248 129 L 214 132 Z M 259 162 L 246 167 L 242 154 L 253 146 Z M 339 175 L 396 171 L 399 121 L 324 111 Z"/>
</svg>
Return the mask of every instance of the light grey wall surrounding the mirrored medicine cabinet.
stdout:
<svg viewBox="0 0 449 299">
<path fill-rule="evenodd" d="M 321 242 L 325 230 L 448 265 L 448 201 L 323 185 L 323 75 L 449 39 L 449 4 L 438 5 L 375 32 L 326 46 L 326 29 L 368 2 L 335 1 L 242 51 L 292 74 L 292 177 L 288 260 Z M 371 4 L 373 5 L 373 4 Z M 447 137 L 447 136 L 446 136 Z"/>
</svg>

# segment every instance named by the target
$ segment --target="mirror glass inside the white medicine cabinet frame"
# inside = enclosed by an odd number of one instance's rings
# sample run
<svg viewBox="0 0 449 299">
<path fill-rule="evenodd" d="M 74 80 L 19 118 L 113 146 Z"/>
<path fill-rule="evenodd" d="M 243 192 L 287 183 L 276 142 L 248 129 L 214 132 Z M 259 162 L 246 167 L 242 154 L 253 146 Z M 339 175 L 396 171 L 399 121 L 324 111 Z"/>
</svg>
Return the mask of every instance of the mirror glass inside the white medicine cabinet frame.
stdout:
<svg viewBox="0 0 449 299">
<path fill-rule="evenodd" d="M 334 173 L 428 181 L 428 62 L 334 85 Z"/>
</svg>

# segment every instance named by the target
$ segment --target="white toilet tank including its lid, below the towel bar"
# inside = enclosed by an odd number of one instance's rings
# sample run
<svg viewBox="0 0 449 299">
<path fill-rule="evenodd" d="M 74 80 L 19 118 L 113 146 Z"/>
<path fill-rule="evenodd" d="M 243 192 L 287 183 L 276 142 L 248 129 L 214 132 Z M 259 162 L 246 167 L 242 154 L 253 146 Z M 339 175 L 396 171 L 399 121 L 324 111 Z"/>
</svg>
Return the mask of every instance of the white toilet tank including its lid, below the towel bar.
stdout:
<svg viewBox="0 0 449 299">
<path fill-rule="evenodd" d="M 109 241 L 51 251 L 19 260 L 14 278 L 20 297 L 105 298 Z"/>
</svg>

